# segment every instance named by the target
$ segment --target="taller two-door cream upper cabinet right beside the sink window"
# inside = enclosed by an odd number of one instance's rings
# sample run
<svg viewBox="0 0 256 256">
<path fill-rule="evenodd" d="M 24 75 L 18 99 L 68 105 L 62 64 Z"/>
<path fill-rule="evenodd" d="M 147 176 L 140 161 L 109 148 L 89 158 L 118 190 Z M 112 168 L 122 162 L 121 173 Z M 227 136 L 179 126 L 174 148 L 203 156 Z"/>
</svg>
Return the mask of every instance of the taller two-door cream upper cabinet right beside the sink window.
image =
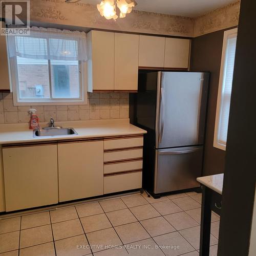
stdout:
<svg viewBox="0 0 256 256">
<path fill-rule="evenodd" d="M 139 36 L 90 31 L 88 91 L 137 91 Z"/>
</svg>

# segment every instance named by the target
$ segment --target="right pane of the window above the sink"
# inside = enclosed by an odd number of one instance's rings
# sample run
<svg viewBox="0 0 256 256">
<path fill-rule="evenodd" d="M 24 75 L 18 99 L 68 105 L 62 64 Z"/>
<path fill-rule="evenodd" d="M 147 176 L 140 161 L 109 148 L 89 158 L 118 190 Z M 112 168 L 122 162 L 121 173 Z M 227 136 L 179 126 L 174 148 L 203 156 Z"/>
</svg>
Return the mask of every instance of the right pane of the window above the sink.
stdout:
<svg viewBox="0 0 256 256">
<path fill-rule="evenodd" d="M 79 98 L 78 61 L 51 60 L 53 98 Z"/>
</svg>

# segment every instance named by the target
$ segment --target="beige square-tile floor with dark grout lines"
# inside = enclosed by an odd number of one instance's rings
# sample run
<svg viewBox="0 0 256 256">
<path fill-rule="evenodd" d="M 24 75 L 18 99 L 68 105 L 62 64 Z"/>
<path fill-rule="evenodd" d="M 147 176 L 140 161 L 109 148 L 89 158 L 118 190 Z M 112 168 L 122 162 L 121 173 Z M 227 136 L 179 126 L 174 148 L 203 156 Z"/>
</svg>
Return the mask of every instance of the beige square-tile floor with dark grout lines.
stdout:
<svg viewBox="0 0 256 256">
<path fill-rule="evenodd" d="M 201 196 L 138 194 L 3 219 L 0 255 L 196 256 Z M 211 256 L 217 255 L 219 219 L 212 213 Z"/>
</svg>

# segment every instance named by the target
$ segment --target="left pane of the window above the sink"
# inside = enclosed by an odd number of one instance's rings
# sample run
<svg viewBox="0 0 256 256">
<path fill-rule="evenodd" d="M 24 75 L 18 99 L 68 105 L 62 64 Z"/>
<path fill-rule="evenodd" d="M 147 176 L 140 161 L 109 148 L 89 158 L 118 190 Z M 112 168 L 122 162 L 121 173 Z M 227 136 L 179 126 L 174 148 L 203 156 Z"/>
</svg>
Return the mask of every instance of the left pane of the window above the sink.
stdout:
<svg viewBox="0 0 256 256">
<path fill-rule="evenodd" d="M 48 60 L 17 57 L 17 72 L 20 99 L 50 98 Z"/>
</svg>

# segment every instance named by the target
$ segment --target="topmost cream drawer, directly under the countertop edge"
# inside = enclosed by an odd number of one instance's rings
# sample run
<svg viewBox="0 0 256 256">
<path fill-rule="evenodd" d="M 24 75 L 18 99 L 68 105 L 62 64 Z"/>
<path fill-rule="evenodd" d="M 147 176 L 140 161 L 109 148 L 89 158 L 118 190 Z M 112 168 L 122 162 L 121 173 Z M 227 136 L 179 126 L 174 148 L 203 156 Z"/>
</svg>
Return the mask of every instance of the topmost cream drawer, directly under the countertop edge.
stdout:
<svg viewBox="0 0 256 256">
<path fill-rule="evenodd" d="M 143 146 L 143 136 L 137 138 L 125 138 L 115 140 L 104 140 L 104 150 L 113 150 L 115 148 Z"/>
</svg>

